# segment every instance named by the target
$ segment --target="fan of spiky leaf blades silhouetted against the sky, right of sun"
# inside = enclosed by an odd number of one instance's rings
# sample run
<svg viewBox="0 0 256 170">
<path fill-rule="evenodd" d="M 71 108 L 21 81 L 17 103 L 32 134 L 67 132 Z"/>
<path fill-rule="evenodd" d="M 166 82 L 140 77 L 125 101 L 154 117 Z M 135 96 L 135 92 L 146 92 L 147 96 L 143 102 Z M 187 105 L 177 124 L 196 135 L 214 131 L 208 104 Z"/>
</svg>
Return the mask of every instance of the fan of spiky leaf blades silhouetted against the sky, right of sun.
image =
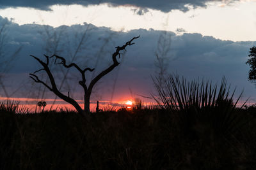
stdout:
<svg viewBox="0 0 256 170">
<path fill-rule="evenodd" d="M 184 77 L 180 79 L 179 75 L 168 76 L 162 81 L 159 78 L 153 78 L 158 96 L 152 95 L 157 104 L 169 111 L 185 111 L 191 108 L 195 110 L 204 110 L 205 108 L 214 108 L 216 106 L 228 106 L 236 108 L 236 104 L 241 98 L 243 92 L 237 97 L 234 103 L 234 93 L 230 96 L 230 85 L 227 87 L 227 81 L 222 78 L 220 88 L 212 85 L 211 81 L 193 80 L 186 81 Z"/>
</svg>

